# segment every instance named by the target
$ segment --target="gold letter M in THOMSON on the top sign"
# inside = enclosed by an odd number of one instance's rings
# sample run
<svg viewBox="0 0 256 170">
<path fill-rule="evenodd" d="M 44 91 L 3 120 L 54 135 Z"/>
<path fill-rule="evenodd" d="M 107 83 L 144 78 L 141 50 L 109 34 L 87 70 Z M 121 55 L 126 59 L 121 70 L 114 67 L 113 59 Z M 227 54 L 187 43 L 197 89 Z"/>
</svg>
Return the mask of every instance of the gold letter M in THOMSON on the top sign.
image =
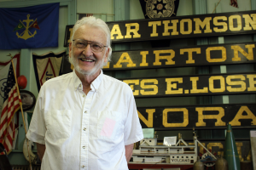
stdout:
<svg viewBox="0 0 256 170">
<path fill-rule="evenodd" d="M 204 33 L 211 33 L 211 27 L 210 27 L 210 20 L 212 20 L 212 17 L 206 17 L 204 21 L 201 21 L 200 18 L 195 18 L 195 31 L 194 34 L 201 34 L 201 29 L 206 29 L 204 30 Z M 200 29 L 201 27 L 201 29 Z"/>
</svg>

